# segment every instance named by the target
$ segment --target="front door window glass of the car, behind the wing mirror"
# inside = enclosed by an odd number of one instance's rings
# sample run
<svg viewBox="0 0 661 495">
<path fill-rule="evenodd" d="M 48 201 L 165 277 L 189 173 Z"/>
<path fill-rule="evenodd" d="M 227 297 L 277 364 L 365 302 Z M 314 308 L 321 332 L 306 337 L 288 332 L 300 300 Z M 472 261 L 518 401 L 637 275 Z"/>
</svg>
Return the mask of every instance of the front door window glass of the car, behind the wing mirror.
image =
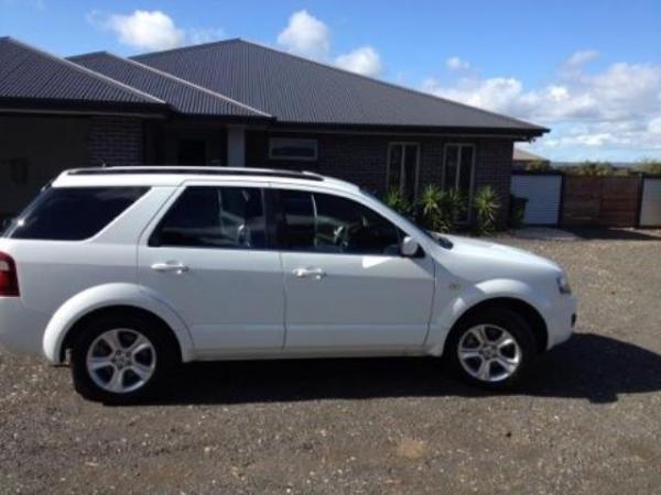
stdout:
<svg viewBox="0 0 661 495">
<path fill-rule="evenodd" d="M 366 206 L 339 196 L 281 190 L 284 249 L 345 254 L 400 252 L 401 231 Z"/>
</svg>

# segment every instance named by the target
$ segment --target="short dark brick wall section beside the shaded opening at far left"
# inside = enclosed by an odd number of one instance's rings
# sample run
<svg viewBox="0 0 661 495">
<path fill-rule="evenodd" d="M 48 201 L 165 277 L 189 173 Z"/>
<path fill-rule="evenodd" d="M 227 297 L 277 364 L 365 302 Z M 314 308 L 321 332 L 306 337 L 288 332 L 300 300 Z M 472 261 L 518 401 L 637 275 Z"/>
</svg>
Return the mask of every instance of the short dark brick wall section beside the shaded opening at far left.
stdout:
<svg viewBox="0 0 661 495">
<path fill-rule="evenodd" d="M 88 147 L 90 165 L 136 165 L 143 162 L 142 120 L 130 117 L 91 118 Z"/>
</svg>

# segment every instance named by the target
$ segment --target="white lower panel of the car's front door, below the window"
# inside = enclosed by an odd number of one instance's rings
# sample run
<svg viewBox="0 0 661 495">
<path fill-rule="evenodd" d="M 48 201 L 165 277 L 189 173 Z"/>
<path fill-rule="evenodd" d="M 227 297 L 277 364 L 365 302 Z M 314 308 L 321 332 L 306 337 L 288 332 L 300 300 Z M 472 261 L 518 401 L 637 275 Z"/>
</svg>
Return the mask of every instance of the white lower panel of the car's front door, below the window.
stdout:
<svg viewBox="0 0 661 495">
<path fill-rule="evenodd" d="M 282 253 L 286 348 L 422 349 L 434 295 L 431 257 Z M 323 277 L 299 277 L 300 268 Z"/>
</svg>

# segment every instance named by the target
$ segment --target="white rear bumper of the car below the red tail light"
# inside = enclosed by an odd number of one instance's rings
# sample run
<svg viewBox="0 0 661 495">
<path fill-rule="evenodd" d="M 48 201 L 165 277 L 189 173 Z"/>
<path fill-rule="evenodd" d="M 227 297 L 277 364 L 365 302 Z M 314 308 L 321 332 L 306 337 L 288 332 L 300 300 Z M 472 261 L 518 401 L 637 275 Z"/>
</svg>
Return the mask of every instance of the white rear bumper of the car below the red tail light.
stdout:
<svg viewBox="0 0 661 495">
<path fill-rule="evenodd" d="M 12 353 L 43 355 L 48 318 L 28 309 L 17 297 L 0 297 L 0 348 Z"/>
</svg>

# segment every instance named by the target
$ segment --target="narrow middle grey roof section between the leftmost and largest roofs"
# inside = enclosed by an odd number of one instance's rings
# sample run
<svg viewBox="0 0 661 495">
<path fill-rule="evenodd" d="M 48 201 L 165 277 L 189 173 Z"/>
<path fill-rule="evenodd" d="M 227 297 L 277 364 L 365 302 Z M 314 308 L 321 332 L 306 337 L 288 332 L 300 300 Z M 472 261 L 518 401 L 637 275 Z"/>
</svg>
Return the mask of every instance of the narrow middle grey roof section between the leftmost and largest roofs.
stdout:
<svg viewBox="0 0 661 495">
<path fill-rule="evenodd" d="M 165 100 L 180 113 L 261 119 L 271 117 L 207 88 L 107 52 L 78 55 L 68 59 Z"/>
</svg>

